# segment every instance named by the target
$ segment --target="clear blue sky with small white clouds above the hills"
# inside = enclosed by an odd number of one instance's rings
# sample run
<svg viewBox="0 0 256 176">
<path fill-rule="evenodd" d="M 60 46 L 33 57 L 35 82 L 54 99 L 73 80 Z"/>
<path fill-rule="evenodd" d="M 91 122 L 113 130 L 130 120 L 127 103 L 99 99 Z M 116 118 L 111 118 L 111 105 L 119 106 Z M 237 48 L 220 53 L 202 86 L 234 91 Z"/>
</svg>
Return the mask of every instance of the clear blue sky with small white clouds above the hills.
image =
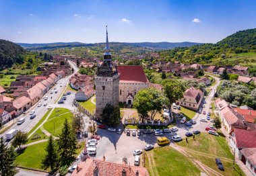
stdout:
<svg viewBox="0 0 256 176">
<path fill-rule="evenodd" d="M 254 0 L 0 0 L 12 42 L 218 42 L 256 28 Z"/>
</svg>

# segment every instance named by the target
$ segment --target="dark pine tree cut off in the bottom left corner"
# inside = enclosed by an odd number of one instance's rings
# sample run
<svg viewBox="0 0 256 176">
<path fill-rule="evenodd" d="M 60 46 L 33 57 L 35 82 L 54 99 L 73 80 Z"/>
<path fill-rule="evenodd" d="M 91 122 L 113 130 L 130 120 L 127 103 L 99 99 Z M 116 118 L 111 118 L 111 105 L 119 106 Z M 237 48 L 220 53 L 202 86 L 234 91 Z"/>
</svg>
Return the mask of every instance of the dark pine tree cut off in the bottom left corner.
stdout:
<svg viewBox="0 0 256 176">
<path fill-rule="evenodd" d="M 15 169 L 15 152 L 13 147 L 7 147 L 3 142 L 3 137 L 0 138 L 0 175 L 11 176 L 17 173 Z"/>
</svg>

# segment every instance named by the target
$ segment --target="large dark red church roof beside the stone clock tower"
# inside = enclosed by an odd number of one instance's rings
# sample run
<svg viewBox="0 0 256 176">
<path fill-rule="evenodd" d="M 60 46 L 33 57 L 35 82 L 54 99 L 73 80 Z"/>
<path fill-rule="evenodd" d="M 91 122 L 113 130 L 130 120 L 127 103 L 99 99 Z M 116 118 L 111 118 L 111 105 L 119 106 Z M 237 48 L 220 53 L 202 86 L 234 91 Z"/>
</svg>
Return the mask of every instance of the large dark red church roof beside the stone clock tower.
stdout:
<svg viewBox="0 0 256 176">
<path fill-rule="evenodd" d="M 117 70 L 120 73 L 120 81 L 148 83 L 148 79 L 140 65 L 117 66 Z"/>
</svg>

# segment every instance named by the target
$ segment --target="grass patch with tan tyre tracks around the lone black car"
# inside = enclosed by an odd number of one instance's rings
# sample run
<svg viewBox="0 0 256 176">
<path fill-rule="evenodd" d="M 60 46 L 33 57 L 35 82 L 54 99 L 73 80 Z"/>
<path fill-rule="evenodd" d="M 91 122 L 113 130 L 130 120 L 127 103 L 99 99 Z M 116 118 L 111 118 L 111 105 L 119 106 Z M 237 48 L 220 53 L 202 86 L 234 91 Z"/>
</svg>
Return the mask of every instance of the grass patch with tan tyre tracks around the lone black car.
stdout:
<svg viewBox="0 0 256 176">
<path fill-rule="evenodd" d="M 201 163 L 222 173 L 222 175 L 244 175 L 238 165 L 235 165 L 235 170 L 232 169 L 233 155 L 230 152 L 226 138 L 222 135 L 213 136 L 202 132 L 195 136 L 195 140 L 189 138 L 188 143 L 186 140 L 183 140 L 177 144 L 185 148 L 189 155 L 193 156 L 193 159 L 201 161 Z M 215 163 L 216 158 L 222 160 L 225 171 L 218 170 Z"/>
</svg>

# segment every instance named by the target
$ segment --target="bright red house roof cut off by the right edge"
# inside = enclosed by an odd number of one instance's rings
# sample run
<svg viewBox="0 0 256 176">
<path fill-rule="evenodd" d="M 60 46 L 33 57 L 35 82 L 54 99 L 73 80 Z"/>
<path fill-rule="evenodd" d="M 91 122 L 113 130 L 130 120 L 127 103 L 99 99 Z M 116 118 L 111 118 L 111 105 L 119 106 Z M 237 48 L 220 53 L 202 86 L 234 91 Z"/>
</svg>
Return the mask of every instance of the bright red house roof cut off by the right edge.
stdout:
<svg viewBox="0 0 256 176">
<path fill-rule="evenodd" d="M 256 148 L 256 131 L 234 128 L 237 148 Z"/>
</svg>

